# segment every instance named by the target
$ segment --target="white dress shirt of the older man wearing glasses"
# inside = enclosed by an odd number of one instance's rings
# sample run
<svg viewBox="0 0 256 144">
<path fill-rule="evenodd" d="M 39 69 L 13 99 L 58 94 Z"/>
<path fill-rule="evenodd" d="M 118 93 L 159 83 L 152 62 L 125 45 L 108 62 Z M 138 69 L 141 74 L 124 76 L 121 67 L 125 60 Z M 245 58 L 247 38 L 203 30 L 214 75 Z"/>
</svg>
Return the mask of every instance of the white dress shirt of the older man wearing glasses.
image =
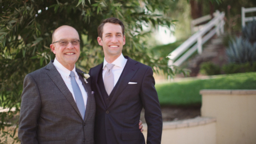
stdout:
<svg viewBox="0 0 256 144">
<path fill-rule="evenodd" d="M 74 100 L 76 101 L 75 95 L 74 95 L 74 92 L 73 92 L 73 88 L 72 88 L 72 85 L 71 85 L 71 77 L 69 76 L 70 75 L 70 70 L 67 69 L 66 67 L 64 67 L 61 63 L 59 63 L 56 58 L 54 59 L 53 65 L 59 71 L 60 76 L 62 77 L 63 81 L 65 82 L 65 84 L 69 88 L 69 91 L 72 93 Z M 76 79 L 76 82 L 77 82 L 81 92 L 82 92 L 84 107 L 86 108 L 87 98 L 88 98 L 87 92 L 84 89 L 84 87 L 82 85 L 82 82 L 79 79 L 78 74 L 76 73 L 76 66 L 74 67 L 74 69 L 72 71 L 74 71 L 74 73 L 75 73 L 75 79 Z"/>
</svg>

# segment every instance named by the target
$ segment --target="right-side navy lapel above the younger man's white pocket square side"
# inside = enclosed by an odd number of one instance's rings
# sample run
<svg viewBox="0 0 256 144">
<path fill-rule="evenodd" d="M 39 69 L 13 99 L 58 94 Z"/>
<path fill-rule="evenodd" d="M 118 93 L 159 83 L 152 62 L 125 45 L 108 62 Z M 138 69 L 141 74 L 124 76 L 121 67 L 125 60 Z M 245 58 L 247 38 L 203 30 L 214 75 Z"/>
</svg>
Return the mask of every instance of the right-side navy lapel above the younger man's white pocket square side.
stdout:
<svg viewBox="0 0 256 144">
<path fill-rule="evenodd" d="M 128 57 L 128 60 L 125 64 L 123 72 L 117 82 L 118 85 L 116 84 L 116 86 L 117 86 L 116 91 L 115 91 L 108 107 L 110 107 L 114 103 L 114 101 L 118 98 L 118 95 L 121 94 L 123 89 L 128 85 L 130 80 L 136 74 L 136 71 L 139 69 L 139 67 L 137 67 L 135 65 L 136 63 L 137 63 L 137 61 L 134 61 Z"/>
</svg>

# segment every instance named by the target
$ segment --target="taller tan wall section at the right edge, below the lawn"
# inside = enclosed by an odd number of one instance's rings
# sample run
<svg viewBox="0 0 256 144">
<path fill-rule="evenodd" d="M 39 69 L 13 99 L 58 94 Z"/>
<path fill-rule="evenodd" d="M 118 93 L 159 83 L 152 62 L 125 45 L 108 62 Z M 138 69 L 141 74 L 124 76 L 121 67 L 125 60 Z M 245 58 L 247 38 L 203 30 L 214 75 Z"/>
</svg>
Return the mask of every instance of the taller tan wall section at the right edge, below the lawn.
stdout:
<svg viewBox="0 0 256 144">
<path fill-rule="evenodd" d="M 201 90 L 201 115 L 217 119 L 217 144 L 256 143 L 256 90 Z"/>
</svg>

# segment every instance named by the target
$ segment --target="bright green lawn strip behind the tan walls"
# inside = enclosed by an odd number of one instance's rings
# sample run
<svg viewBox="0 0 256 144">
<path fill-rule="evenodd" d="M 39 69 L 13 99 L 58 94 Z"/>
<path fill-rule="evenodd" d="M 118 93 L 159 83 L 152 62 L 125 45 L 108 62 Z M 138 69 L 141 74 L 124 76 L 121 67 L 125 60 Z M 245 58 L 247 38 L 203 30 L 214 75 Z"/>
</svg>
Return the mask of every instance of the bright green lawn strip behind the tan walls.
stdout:
<svg viewBox="0 0 256 144">
<path fill-rule="evenodd" d="M 200 106 L 201 89 L 256 89 L 256 72 L 230 74 L 215 79 L 156 84 L 161 106 Z"/>
</svg>

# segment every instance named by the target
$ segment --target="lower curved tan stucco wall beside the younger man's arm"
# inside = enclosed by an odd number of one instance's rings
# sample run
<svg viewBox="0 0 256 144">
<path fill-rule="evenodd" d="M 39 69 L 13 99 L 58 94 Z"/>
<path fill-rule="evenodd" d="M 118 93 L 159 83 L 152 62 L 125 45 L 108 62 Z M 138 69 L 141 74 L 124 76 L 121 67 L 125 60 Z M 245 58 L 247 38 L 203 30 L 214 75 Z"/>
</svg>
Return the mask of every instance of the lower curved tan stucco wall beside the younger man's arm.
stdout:
<svg viewBox="0 0 256 144">
<path fill-rule="evenodd" d="M 146 138 L 146 125 L 143 128 L 143 134 Z M 183 121 L 164 122 L 161 143 L 216 144 L 216 119 L 211 117 L 197 117 Z"/>
</svg>

